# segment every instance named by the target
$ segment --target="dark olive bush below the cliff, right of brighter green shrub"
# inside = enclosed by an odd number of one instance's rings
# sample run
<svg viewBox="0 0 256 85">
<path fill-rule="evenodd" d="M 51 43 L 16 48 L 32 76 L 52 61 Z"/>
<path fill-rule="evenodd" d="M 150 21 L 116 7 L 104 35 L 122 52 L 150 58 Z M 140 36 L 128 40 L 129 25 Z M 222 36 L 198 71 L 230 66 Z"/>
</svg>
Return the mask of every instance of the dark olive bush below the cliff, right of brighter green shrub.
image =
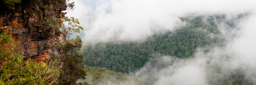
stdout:
<svg viewBox="0 0 256 85">
<path fill-rule="evenodd" d="M 76 84 L 77 79 L 85 79 L 86 72 L 83 70 L 83 56 L 78 54 L 82 40 L 77 36 L 75 40 L 70 40 L 64 43 L 58 43 L 56 46 L 58 50 L 62 50 L 64 56 L 61 60 L 64 61 L 60 77 L 56 84 L 73 85 Z"/>
</svg>

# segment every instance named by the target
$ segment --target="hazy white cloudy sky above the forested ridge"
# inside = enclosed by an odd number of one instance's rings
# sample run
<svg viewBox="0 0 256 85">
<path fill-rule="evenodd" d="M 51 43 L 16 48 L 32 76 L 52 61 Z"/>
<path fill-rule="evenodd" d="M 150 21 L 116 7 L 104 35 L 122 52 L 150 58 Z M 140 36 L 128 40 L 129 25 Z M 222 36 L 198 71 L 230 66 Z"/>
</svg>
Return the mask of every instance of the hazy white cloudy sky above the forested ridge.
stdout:
<svg viewBox="0 0 256 85">
<path fill-rule="evenodd" d="M 85 41 L 140 40 L 173 29 L 187 14 L 229 16 L 256 10 L 256 0 L 73 0 Z"/>
</svg>

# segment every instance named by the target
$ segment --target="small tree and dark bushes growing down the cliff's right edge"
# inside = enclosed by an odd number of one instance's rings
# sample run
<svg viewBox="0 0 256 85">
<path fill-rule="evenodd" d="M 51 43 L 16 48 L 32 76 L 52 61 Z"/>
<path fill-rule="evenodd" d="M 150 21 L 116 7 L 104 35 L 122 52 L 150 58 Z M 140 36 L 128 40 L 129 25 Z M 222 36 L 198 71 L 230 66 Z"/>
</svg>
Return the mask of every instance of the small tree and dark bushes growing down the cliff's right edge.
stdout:
<svg viewBox="0 0 256 85">
<path fill-rule="evenodd" d="M 78 54 L 78 51 L 80 51 L 82 46 L 82 40 L 78 36 L 73 40 L 66 38 L 72 33 L 80 32 L 83 28 L 78 26 L 80 23 L 78 22 L 78 19 L 75 19 L 74 17 L 65 17 L 64 21 L 67 22 L 68 25 L 63 25 L 57 31 L 64 35 L 66 42 L 56 41 L 56 44 L 53 47 L 54 53 L 51 60 L 57 59 L 64 62 L 61 64 L 63 67 L 60 70 L 60 76 L 55 84 L 74 85 L 76 84 L 77 79 L 85 79 L 85 76 L 87 75 L 85 70 L 83 70 L 83 57 Z M 50 24 L 52 24 L 50 27 L 53 28 L 58 26 L 55 23 Z"/>
</svg>

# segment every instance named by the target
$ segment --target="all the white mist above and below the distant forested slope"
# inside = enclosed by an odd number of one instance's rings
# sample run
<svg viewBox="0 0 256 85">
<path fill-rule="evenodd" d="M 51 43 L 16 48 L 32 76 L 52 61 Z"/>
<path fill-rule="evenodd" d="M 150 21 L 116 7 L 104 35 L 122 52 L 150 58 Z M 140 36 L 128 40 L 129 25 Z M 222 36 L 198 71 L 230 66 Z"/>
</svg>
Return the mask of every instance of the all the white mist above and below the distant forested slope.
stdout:
<svg viewBox="0 0 256 85">
<path fill-rule="evenodd" d="M 207 53 L 198 47 L 189 59 L 157 55 L 130 76 L 152 81 L 153 85 L 216 85 L 212 82 L 216 78 L 226 78 L 214 75 L 212 69 L 220 68 L 220 74 L 232 74 L 239 69 L 239 73 L 256 83 L 254 0 L 96 0 L 93 5 L 74 1 L 77 8 L 70 12 L 75 13 L 68 12 L 67 16 L 80 19 L 85 28 L 83 42 L 145 40 L 154 33 L 172 31 L 187 23 L 180 17 L 225 15 L 225 21 L 234 21 L 235 27 L 218 23 L 224 46 L 215 46 Z M 237 18 L 241 14 L 248 15 Z M 140 84 L 135 79 L 108 81 L 108 85 Z"/>
</svg>

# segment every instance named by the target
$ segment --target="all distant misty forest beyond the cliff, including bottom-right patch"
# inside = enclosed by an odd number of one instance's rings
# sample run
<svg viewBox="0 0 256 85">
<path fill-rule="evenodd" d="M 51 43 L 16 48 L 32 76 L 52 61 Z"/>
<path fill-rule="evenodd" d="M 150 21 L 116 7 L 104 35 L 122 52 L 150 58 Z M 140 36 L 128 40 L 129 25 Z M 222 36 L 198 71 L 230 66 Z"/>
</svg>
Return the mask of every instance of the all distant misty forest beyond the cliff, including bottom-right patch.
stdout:
<svg viewBox="0 0 256 85">
<path fill-rule="evenodd" d="M 239 15 L 236 19 L 244 16 Z M 206 54 L 214 47 L 224 47 L 226 44 L 226 39 L 218 27 L 220 23 L 224 23 L 227 29 L 235 29 L 235 20 L 227 21 L 225 15 L 187 16 L 181 17 L 180 20 L 185 25 L 177 27 L 174 31 L 155 33 L 145 41 L 112 39 L 107 42 L 84 45 L 80 53 L 84 57 L 83 64 L 88 77 L 91 77 L 92 84 L 108 84 L 108 79 L 113 76 L 114 80 L 111 81 L 137 78 L 134 83 L 136 85 L 152 85 L 157 78 L 136 75 L 136 72 L 146 66 L 147 62 L 150 62 L 152 68 L 160 70 L 170 66 L 173 62 L 160 63 L 162 62 L 161 58 L 157 56 L 168 56 L 176 61 L 182 61 L 194 58 L 194 53 L 198 50 Z M 253 84 L 252 80 L 243 74 L 244 70 L 236 69 L 231 73 L 219 72 L 223 69 L 221 63 L 209 67 L 207 71 L 209 85 Z M 220 77 L 220 75 L 224 77 Z"/>
</svg>

